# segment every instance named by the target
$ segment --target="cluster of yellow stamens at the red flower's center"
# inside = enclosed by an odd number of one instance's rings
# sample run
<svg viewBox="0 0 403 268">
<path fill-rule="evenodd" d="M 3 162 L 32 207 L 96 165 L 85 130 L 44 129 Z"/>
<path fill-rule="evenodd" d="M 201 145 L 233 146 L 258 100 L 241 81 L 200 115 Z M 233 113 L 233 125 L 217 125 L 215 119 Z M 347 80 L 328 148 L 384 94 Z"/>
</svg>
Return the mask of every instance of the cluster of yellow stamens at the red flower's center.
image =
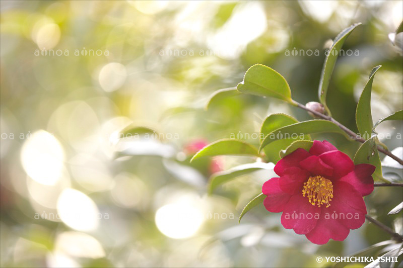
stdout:
<svg viewBox="0 0 403 268">
<path fill-rule="evenodd" d="M 333 185 L 322 176 L 309 177 L 308 181 L 304 183 L 302 194 L 308 196 L 309 203 L 312 206 L 316 204 L 320 208 L 321 205 L 326 205 L 326 208 L 330 207 L 329 202 L 333 198 Z"/>
</svg>

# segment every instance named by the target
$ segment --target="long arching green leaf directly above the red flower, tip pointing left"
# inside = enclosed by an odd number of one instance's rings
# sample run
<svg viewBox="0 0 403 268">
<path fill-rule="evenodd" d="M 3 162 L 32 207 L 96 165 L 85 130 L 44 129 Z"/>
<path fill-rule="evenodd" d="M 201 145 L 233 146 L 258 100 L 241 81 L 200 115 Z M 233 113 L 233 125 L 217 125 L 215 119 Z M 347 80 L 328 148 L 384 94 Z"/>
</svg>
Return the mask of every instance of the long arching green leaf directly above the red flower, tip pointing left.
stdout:
<svg viewBox="0 0 403 268">
<path fill-rule="evenodd" d="M 279 128 L 264 137 L 259 151 L 263 149 L 267 144 L 280 139 L 287 139 L 290 137 L 304 137 L 304 134 L 322 133 L 322 132 L 335 132 L 344 135 L 347 139 L 351 139 L 346 132 L 344 132 L 338 125 L 328 120 L 315 119 L 308 120 L 299 123 L 295 123 L 289 126 Z"/>
</svg>

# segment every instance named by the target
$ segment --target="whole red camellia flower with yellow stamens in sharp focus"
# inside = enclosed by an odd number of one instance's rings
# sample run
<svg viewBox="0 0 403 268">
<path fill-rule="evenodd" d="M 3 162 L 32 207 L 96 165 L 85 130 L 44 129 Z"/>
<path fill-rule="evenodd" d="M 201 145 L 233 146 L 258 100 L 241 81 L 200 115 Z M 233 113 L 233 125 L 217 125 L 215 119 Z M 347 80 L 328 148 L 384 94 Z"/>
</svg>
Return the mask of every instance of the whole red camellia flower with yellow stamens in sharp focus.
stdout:
<svg viewBox="0 0 403 268">
<path fill-rule="evenodd" d="M 313 142 L 280 159 L 274 177 L 263 184 L 266 210 L 283 212 L 281 224 L 315 244 L 343 241 L 360 228 L 367 209 L 363 196 L 374 190 L 375 166 L 354 165 L 330 142 Z"/>
</svg>

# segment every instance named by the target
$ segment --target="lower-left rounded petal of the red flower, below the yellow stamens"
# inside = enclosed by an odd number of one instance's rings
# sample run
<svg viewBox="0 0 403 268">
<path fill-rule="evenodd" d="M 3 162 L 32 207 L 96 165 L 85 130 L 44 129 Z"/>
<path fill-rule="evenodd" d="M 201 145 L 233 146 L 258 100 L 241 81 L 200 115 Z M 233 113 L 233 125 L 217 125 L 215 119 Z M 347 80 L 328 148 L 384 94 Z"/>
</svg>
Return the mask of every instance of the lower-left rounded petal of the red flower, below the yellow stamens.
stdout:
<svg viewBox="0 0 403 268">
<path fill-rule="evenodd" d="M 294 229 L 297 234 L 307 234 L 315 226 L 320 216 L 320 208 L 312 206 L 307 197 L 294 195 L 284 207 L 281 224 L 286 229 Z"/>
</svg>

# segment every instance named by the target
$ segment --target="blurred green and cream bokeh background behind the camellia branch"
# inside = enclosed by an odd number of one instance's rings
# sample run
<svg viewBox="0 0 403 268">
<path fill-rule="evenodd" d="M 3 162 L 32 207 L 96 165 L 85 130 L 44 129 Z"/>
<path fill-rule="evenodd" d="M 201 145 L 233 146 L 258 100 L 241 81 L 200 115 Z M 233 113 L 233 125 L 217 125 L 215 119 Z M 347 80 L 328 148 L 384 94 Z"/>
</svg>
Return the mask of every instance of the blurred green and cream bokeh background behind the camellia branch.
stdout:
<svg viewBox="0 0 403 268">
<path fill-rule="evenodd" d="M 255 159 L 189 158 L 231 135 L 258 145 L 271 113 L 309 119 L 255 96 L 206 104 L 255 63 L 280 72 L 296 101 L 317 101 L 326 48 L 356 22 L 330 82 L 333 117 L 357 131 L 357 101 L 376 65 L 374 120 L 402 109 L 402 34 L 391 34 L 402 3 L 1 1 L 1 266 L 312 267 L 323 265 L 316 256 L 388 240 L 366 223 L 344 242 L 314 245 L 263 206 L 238 225 L 273 171 L 208 196 L 212 173 Z M 120 137 L 127 126 L 143 128 Z M 377 130 L 389 149 L 401 146 L 401 122 Z M 350 156 L 359 146 L 313 138 Z M 402 198 L 375 189 L 368 211 L 401 233 L 401 216 L 387 213 Z"/>
</svg>

